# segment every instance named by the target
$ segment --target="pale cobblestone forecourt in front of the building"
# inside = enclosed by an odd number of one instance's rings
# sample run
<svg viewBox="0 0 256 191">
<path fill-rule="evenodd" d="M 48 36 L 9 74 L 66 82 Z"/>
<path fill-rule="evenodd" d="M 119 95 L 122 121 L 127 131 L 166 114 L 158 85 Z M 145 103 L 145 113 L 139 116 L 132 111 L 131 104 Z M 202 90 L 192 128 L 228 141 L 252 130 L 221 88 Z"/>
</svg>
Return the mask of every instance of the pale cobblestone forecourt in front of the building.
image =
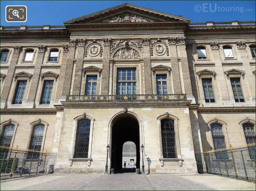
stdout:
<svg viewBox="0 0 256 191">
<path fill-rule="evenodd" d="M 49 174 L 3 180 L 1 190 L 255 190 L 255 183 L 215 175 Z"/>
</svg>

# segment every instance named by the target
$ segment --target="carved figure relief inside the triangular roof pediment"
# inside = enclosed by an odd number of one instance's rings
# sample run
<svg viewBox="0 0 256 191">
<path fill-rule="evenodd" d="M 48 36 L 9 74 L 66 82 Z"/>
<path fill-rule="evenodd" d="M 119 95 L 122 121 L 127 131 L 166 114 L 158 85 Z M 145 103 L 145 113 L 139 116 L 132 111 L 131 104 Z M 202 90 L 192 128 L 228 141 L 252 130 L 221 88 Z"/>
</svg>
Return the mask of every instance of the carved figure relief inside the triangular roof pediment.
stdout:
<svg viewBox="0 0 256 191">
<path fill-rule="evenodd" d="M 154 22 L 152 19 L 144 18 L 137 15 L 122 14 L 101 21 L 102 23 L 127 23 L 127 22 Z"/>
</svg>

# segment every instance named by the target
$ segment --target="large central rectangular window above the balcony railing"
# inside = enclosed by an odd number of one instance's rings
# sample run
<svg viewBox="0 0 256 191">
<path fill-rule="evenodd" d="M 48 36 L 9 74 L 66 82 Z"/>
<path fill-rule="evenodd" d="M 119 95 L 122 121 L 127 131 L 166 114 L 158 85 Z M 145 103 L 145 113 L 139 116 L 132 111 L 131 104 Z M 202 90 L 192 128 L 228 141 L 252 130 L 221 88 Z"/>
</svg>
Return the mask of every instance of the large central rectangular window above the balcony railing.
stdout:
<svg viewBox="0 0 256 191">
<path fill-rule="evenodd" d="M 136 94 L 136 69 L 118 69 L 117 95 L 135 95 Z"/>
</svg>

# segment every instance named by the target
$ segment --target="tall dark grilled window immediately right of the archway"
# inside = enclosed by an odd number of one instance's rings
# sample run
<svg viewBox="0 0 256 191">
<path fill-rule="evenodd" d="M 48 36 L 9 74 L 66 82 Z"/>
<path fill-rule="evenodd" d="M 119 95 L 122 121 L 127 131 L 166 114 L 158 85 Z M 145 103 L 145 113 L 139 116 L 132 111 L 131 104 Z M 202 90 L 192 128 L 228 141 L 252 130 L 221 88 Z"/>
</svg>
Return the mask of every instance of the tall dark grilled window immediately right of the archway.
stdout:
<svg viewBox="0 0 256 191">
<path fill-rule="evenodd" d="M 161 120 L 162 148 L 164 158 L 177 158 L 174 121 Z"/>
</svg>

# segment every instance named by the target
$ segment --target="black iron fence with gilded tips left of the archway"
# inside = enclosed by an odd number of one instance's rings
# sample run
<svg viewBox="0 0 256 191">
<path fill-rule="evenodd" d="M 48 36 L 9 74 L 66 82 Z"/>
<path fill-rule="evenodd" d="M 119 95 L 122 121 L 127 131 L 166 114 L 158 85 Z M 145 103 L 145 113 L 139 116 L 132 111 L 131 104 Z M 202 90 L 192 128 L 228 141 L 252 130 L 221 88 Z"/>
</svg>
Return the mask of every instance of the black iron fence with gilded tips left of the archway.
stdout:
<svg viewBox="0 0 256 191">
<path fill-rule="evenodd" d="M 24 150 L 1 146 L 1 179 L 38 173 L 53 173 L 57 153 L 40 153 L 36 150 Z"/>
</svg>

